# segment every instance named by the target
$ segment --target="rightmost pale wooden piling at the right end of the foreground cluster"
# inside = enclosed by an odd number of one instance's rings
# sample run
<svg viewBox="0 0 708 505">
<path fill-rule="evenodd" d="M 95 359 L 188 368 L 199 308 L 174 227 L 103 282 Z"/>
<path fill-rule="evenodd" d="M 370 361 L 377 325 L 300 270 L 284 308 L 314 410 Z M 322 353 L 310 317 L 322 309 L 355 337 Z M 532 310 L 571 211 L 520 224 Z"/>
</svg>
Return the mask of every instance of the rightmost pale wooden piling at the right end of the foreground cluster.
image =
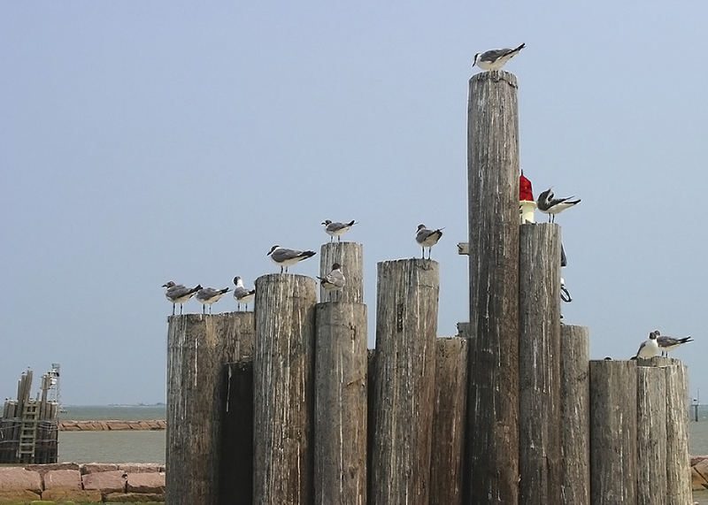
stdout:
<svg viewBox="0 0 708 505">
<path fill-rule="evenodd" d="M 688 369 L 672 359 L 666 373 L 666 493 L 669 503 L 692 503 Z"/>
</svg>

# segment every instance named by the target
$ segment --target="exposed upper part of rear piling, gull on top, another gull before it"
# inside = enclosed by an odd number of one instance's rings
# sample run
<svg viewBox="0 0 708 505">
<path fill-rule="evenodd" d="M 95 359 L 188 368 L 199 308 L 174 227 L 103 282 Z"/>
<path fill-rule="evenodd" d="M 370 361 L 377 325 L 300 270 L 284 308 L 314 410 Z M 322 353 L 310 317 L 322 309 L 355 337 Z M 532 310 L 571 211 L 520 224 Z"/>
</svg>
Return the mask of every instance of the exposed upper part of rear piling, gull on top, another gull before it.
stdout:
<svg viewBox="0 0 708 505">
<path fill-rule="evenodd" d="M 357 242 L 327 242 L 319 249 L 319 277 L 332 272 L 332 264 L 341 264 L 346 285 L 331 294 L 333 301 L 364 302 L 364 246 Z M 320 302 L 328 302 L 330 294 L 319 288 Z"/>
</svg>

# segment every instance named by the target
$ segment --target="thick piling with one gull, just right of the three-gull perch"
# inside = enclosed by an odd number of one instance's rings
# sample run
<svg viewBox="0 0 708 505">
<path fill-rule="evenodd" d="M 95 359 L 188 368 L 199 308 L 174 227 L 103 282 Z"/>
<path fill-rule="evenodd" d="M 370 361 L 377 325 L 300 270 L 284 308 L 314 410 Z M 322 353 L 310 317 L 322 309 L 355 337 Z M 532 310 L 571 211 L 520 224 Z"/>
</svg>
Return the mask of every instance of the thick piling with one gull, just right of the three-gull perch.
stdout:
<svg viewBox="0 0 708 505">
<path fill-rule="evenodd" d="M 312 501 L 315 282 L 256 279 L 253 502 Z"/>
</svg>

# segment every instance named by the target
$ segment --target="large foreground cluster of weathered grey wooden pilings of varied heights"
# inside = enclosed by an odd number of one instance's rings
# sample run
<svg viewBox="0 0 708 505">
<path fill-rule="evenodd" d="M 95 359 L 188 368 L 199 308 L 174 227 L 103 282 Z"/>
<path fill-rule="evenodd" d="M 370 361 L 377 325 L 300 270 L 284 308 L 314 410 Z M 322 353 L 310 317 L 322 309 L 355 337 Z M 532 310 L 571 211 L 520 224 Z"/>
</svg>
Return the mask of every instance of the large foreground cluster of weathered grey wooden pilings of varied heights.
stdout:
<svg viewBox="0 0 708 505">
<path fill-rule="evenodd" d="M 336 302 L 272 274 L 254 312 L 168 319 L 167 502 L 689 503 L 685 368 L 591 362 L 560 324 L 559 226 L 519 226 L 516 90 L 470 80 L 458 336 L 436 336 L 439 265 L 385 261 L 367 350 L 353 242 L 320 251 Z"/>
</svg>

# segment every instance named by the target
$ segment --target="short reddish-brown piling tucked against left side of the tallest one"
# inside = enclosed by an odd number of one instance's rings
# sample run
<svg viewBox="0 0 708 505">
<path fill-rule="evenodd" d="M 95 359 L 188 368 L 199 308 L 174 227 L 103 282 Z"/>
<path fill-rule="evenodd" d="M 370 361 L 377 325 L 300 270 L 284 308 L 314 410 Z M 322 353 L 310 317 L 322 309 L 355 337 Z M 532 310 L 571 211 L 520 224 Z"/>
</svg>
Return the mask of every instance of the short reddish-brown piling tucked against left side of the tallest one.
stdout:
<svg viewBox="0 0 708 505">
<path fill-rule="evenodd" d="M 435 400 L 430 455 L 430 503 L 462 503 L 462 455 L 467 408 L 467 339 L 435 339 Z"/>
</svg>

